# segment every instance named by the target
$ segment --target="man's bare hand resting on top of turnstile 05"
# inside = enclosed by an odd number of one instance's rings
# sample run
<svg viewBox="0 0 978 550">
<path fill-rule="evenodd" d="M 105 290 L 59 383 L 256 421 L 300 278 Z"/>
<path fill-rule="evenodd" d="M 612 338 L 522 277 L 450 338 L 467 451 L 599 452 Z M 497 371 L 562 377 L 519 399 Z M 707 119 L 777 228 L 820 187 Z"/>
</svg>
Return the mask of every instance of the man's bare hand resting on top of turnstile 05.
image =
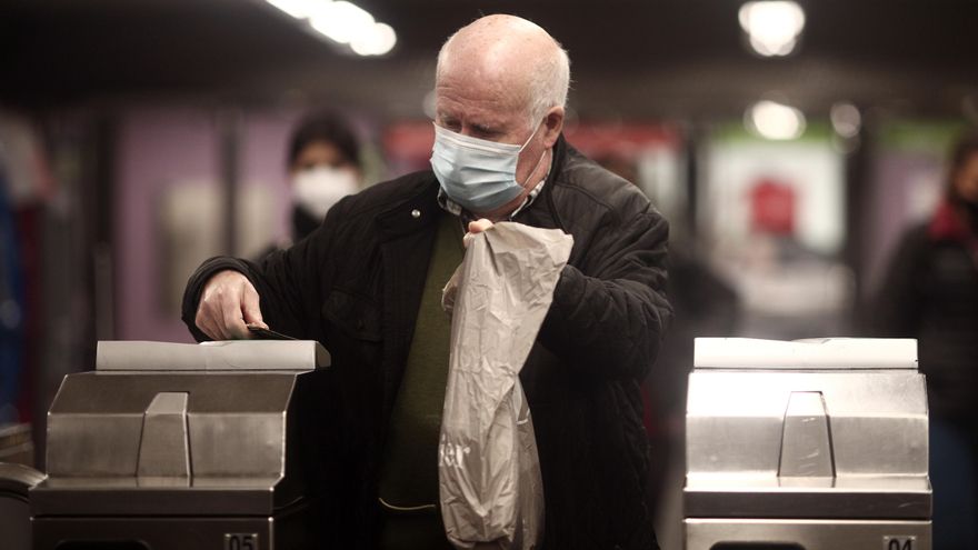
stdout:
<svg viewBox="0 0 978 550">
<path fill-rule="evenodd" d="M 207 281 L 193 322 L 214 340 L 251 338 L 247 323 L 268 328 L 261 320 L 258 291 L 247 277 L 234 270 L 218 271 Z"/>
</svg>

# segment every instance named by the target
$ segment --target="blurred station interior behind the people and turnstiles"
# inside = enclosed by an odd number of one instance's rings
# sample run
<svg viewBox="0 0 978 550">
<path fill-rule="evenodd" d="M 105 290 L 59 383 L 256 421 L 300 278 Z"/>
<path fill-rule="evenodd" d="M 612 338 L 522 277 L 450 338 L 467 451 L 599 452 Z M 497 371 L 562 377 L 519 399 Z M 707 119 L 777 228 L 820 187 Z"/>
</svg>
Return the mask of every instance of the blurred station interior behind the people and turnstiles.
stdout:
<svg viewBox="0 0 978 550">
<path fill-rule="evenodd" d="M 693 336 L 859 332 L 978 123 L 972 0 L 2 0 L 0 426 L 30 460 L 98 340 L 191 341 L 193 268 L 288 237 L 305 113 L 352 122 L 366 184 L 426 168 L 437 51 L 492 12 L 565 46 L 568 140 L 671 222 L 662 441 Z"/>
</svg>

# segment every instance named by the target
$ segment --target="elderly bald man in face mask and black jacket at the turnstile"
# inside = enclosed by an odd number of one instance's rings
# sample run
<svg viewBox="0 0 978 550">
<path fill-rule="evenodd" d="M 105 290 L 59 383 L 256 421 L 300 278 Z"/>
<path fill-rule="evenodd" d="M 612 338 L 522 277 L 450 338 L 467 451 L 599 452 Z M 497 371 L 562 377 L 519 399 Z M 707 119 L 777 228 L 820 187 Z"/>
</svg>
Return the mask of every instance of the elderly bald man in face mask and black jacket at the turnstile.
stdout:
<svg viewBox="0 0 978 550">
<path fill-rule="evenodd" d="M 441 288 L 463 232 L 506 220 L 573 236 L 520 379 L 546 500 L 543 547 L 656 548 L 645 498 L 639 382 L 670 309 L 667 223 L 629 182 L 561 136 L 567 53 L 543 29 L 489 16 L 442 47 L 431 171 L 340 201 L 322 226 L 260 264 L 193 274 L 184 321 L 199 339 L 256 322 L 332 353 L 310 470 L 328 548 L 445 548 L 437 447 L 450 320 Z"/>
</svg>

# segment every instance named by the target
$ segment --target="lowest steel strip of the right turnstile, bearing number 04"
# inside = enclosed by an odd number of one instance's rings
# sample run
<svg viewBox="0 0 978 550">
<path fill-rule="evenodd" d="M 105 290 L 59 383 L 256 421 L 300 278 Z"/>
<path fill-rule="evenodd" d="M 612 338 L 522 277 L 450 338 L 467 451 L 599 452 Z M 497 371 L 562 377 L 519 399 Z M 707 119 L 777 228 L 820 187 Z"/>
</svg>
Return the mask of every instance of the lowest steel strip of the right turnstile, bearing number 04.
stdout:
<svg viewBox="0 0 978 550">
<path fill-rule="evenodd" d="M 776 543 L 799 550 L 931 550 L 930 521 L 687 519 L 686 550 L 749 549 Z M 740 543 L 738 546 L 738 543 Z M 771 548 L 770 546 L 757 548 Z"/>
</svg>

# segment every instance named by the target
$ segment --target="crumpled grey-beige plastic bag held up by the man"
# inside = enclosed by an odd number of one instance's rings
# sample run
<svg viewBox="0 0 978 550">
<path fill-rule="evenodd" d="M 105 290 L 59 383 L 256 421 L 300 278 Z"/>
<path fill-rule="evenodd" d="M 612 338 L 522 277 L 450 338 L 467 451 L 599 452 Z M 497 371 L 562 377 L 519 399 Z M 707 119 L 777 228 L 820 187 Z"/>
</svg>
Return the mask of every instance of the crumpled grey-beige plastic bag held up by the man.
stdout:
<svg viewBox="0 0 978 550">
<path fill-rule="evenodd" d="M 572 246 L 558 229 L 500 222 L 475 236 L 445 288 L 451 356 L 438 480 L 456 548 L 540 546 L 543 483 L 519 371 Z"/>
</svg>

